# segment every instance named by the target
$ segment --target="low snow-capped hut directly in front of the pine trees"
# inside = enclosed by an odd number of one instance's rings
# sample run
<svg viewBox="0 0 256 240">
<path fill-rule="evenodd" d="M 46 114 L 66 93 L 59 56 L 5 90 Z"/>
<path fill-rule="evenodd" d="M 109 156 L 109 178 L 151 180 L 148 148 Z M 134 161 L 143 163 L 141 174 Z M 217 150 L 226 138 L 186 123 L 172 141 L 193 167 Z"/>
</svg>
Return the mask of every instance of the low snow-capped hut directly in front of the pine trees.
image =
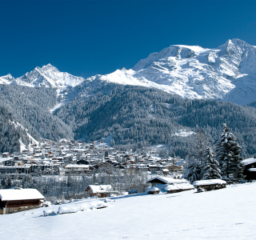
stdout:
<svg viewBox="0 0 256 240">
<path fill-rule="evenodd" d="M 226 187 L 226 181 L 222 179 L 199 180 L 193 182 L 193 184 L 198 192 L 218 190 Z"/>
</svg>

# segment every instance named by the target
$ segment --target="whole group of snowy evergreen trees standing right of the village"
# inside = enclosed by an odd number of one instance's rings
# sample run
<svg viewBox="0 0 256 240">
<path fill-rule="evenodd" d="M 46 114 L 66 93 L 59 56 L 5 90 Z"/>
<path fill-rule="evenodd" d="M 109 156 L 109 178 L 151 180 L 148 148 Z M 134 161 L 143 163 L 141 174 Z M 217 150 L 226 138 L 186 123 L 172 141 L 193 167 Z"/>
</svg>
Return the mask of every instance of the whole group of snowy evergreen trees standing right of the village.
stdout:
<svg viewBox="0 0 256 240">
<path fill-rule="evenodd" d="M 226 124 L 223 124 L 222 134 L 215 144 L 215 154 L 206 136 L 199 132 L 183 178 L 190 182 L 209 179 L 223 179 L 228 183 L 240 182 L 244 178 L 241 152 L 242 147 Z"/>
</svg>

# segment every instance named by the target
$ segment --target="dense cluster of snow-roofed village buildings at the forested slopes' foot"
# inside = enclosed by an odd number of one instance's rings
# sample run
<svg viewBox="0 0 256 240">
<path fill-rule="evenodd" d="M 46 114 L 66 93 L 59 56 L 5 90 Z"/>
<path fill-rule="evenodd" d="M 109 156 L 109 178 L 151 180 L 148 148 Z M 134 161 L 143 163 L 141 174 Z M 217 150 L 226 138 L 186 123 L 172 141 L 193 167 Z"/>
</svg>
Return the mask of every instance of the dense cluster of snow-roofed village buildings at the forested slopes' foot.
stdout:
<svg viewBox="0 0 256 240">
<path fill-rule="evenodd" d="M 186 162 L 176 158 L 158 158 L 152 150 L 114 150 L 105 142 L 45 140 L 26 146 L 19 154 L 3 153 L 0 158 L 2 175 L 90 175 L 95 170 L 120 169 L 128 174 L 147 171 L 151 174 L 182 174 Z"/>
</svg>

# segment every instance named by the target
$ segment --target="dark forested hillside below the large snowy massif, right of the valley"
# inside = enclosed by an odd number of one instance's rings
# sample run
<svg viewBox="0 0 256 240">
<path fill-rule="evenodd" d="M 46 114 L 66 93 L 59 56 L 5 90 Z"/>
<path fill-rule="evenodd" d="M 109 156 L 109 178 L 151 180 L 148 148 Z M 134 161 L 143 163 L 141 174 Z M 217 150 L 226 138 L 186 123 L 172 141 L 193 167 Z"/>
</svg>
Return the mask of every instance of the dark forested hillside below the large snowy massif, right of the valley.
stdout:
<svg viewBox="0 0 256 240">
<path fill-rule="evenodd" d="M 186 99 L 142 86 L 118 86 L 110 94 L 78 98 L 62 106 L 56 116 L 72 126 L 74 138 L 97 140 L 113 134 L 113 145 L 145 148 L 166 144 L 182 158 L 190 151 L 193 134 L 203 130 L 214 144 L 222 123 L 230 126 L 244 157 L 256 153 L 256 110 L 231 102 Z M 186 134 L 185 134 L 186 135 Z"/>
</svg>

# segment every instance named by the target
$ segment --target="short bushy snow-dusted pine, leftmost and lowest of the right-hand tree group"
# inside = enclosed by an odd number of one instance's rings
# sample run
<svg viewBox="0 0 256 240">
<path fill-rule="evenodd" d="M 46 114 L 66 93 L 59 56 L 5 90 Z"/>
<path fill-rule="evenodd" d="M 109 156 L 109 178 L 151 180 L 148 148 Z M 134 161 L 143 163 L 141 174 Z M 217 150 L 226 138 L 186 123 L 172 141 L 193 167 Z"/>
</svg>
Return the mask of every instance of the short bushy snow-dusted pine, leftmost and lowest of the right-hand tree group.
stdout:
<svg viewBox="0 0 256 240">
<path fill-rule="evenodd" d="M 190 158 L 188 160 L 188 164 L 185 167 L 185 171 L 183 173 L 182 178 L 193 183 L 194 181 L 201 180 L 202 178 L 202 170 L 201 164 L 195 158 Z"/>
</svg>

